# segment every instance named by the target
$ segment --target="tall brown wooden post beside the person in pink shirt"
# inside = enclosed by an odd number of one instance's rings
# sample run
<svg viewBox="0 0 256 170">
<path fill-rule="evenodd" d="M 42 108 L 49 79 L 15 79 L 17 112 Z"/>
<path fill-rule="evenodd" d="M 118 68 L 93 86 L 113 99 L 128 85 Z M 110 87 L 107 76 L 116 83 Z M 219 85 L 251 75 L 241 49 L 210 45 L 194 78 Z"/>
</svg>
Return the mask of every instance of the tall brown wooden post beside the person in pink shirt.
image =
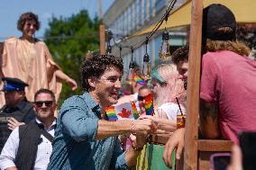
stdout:
<svg viewBox="0 0 256 170">
<path fill-rule="evenodd" d="M 184 169 L 197 170 L 198 112 L 203 11 L 202 0 L 192 0 L 191 10 Z"/>
</svg>

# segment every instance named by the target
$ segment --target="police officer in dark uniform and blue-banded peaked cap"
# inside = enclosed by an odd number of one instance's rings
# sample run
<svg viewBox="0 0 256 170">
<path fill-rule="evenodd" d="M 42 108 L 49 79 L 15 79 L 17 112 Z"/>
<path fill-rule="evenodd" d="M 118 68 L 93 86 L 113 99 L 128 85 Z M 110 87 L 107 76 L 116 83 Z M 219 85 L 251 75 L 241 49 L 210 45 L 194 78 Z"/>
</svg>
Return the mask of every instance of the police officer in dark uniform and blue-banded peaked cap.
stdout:
<svg viewBox="0 0 256 170">
<path fill-rule="evenodd" d="M 0 152 L 5 146 L 12 130 L 35 118 L 32 103 L 25 97 L 24 83 L 18 78 L 4 77 L 3 92 L 5 93 L 5 105 L 0 109 Z"/>
</svg>

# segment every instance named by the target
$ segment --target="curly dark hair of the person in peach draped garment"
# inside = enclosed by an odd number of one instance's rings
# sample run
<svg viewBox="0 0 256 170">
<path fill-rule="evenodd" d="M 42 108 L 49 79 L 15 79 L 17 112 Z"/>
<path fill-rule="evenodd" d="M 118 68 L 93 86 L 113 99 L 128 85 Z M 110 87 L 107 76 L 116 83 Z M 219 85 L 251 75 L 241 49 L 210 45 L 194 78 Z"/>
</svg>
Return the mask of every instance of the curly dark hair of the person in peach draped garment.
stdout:
<svg viewBox="0 0 256 170">
<path fill-rule="evenodd" d="M 35 21 L 36 23 L 36 30 L 38 31 L 40 29 L 40 22 L 38 20 L 38 15 L 34 14 L 32 12 L 23 13 L 18 22 L 17 22 L 17 29 L 19 31 L 23 31 L 24 25 L 26 21 Z"/>
</svg>

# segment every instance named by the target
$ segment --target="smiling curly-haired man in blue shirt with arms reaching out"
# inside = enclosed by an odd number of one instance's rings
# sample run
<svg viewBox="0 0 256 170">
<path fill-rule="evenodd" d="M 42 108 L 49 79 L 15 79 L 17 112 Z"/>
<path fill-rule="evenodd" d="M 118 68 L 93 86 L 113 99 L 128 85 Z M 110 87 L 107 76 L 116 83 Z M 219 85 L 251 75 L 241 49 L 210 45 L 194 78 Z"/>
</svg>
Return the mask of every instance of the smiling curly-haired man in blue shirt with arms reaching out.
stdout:
<svg viewBox="0 0 256 170">
<path fill-rule="evenodd" d="M 117 103 L 122 58 L 95 55 L 82 65 L 86 91 L 66 100 L 60 109 L 48 169 L 128 169 L 136 165 L 146 136 L 157 127 L 151 120 L 107 121 L 103 108 Z M 118 135 L 136 140 L 123 152 Z"/>
</svg>

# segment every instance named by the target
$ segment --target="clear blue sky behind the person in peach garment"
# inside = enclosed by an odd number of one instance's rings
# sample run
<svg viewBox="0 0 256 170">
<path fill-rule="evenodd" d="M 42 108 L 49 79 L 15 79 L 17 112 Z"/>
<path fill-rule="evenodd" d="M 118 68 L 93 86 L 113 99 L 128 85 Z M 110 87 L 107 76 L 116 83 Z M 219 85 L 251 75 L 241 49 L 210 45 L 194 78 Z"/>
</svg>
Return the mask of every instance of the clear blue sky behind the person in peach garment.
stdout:
<svg viewBox="0 0 256 170">
<path fill-rule="evenodd" d="M 114 0 L 102 0 L 102 13 L 114 3 Z M 52 15 L 67 18 L 87 9 L 94 18 L 97 13 L 97 0 L 1 0 L 0 10 L 0 41 L 11 36 L 21 36 L 16 29 L 20 15 L 26 12 L 36 13 L 41 22 L 41 29 L 36 31 L 36 37 L 42 37 Z"/>
</svg>

